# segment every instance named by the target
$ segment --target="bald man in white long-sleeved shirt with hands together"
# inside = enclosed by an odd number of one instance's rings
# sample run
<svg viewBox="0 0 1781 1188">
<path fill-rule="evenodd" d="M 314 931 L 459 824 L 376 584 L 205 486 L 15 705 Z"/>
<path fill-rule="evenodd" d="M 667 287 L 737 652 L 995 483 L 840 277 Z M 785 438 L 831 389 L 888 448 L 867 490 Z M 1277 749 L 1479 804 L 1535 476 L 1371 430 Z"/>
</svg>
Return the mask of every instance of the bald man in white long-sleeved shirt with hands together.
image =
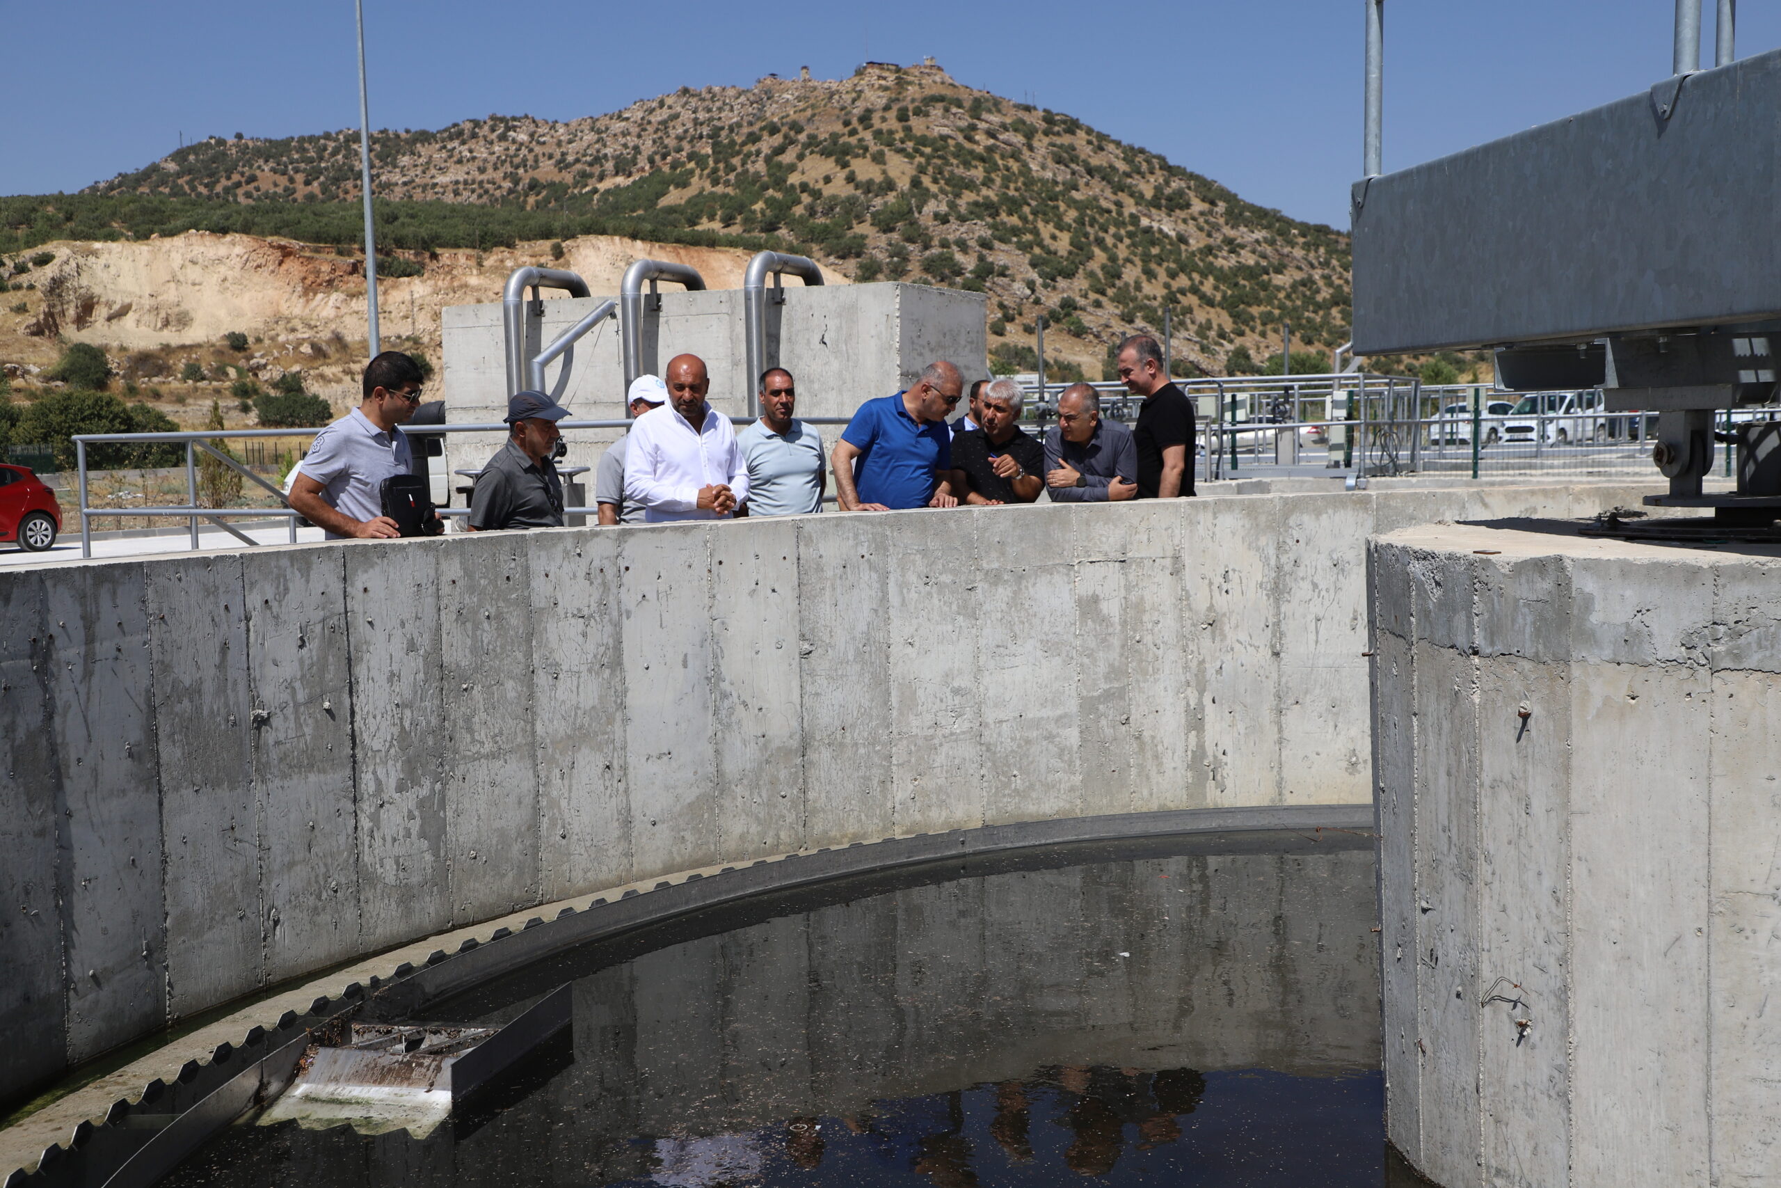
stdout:
<svg viewBox="0 0 1781 1188">
<path fill-rule="evenodd" d="M 748 499 L 748 460 L 730 419 L 705 403 L 705 360 L 677 354 L 664 372 L 668 403 L 638 417 L 625 447 L 625 499 L 645 524 L 727 520 Z"/>
</svg>

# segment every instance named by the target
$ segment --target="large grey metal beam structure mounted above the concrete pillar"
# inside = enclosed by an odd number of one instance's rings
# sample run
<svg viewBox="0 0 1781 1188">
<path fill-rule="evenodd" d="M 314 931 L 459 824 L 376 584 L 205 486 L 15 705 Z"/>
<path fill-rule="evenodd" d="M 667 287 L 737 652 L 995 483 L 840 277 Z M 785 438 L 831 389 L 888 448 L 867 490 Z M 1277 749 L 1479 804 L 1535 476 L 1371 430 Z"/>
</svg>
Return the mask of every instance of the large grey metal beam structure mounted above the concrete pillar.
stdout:
<svg viewBox="0 0 1781 1188">
<path fill-rule="evenodd" d="M 1781 349 L 1781 50 L 1699 61 L 1699 0 L 1678 0 L 1676 73 L 1635 94 L 1452 157 L 1380 173 L 1382 0 L 1368 5 L 1366 176 L 1354 185 L 1361 354 L 1496 351 L 1516 392 L 1601 387 L 1658 411 L 1646 502 L 1781 515 L 1781 426 L 1715 433 L 1715 411 L 1776 399 Z M 1514 294 L 1514 299 L 1505 299 Z M 1738 490 L 1703 495 L 1715 440 Z"/>
</svg>

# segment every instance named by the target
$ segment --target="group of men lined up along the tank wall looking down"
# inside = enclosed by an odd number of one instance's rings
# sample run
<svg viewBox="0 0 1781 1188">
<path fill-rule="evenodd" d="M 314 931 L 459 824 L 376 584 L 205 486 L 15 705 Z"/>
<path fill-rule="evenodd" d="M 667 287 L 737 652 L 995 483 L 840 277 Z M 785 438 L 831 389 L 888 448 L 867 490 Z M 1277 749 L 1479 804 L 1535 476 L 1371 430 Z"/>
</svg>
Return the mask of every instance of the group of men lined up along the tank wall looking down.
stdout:
<svg viewBox="0 0 1781 1188">
<path fill-rule="evenodd" d="M 639 376 L 627 392 L 630 431 L 600 458 L 600 524 L 663 524 L 821 511 L 828 468 L 842 511 L 1033 502 L 1170 499 L 1193 495 L 1193 403 L 1168 378 L 1156 338 L 1133 335 L 1117 354 L 1118 378 L 1143 397 L 1133 429 L 1101 417 L 1086 383 L 1063 390 L 1044 442 L 1021 427 L 1013 379 L 971 385 L 949 362 L 930 363 L 907 390 L 866 401 L 832 451 L 794 415 L 796 381 L 784 367 L 759 378 L 760 417 L 739 433 L 707 401 L 711 376 L 696 354 Z M 399 536 L 379 508 L 386 479 L 410 472 L 399 426 L 420 404 L 420 369 L 385 351 L 365 369 L 363 403 L 324 427 L 301 463 L 290 506 L 329 538 Z M 563 481 L 557 422 L 568 410 L 543 392 L 508 403 L 509 436 L 477 474 L 470 531 L 557 527 Z M 826 463 L 826 465 L 825 465 Z M 436 531 L 436 522 L 433 525 Z"/>
</svg>

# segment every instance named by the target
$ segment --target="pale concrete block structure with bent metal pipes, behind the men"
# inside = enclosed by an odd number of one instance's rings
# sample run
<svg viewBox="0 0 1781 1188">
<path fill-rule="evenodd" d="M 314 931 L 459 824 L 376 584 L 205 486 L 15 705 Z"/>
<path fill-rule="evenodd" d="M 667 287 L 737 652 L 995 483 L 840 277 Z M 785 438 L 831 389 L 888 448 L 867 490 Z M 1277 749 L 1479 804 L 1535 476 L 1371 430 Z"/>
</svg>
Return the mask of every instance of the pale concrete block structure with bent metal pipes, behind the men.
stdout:
<svg viewBox="0 0 1781 1188">
<path fill-rule="evenodd" d="M 901 281 L 805 289 L 796 280 L 782 292 L 784 303 L 766 306 L 768 358 L 796 374 L 801 417 L 851 417 L 864 401 L 907 388 L 939 358 L 958 363 L 967 383 L 988 374 L 983 294 Z M 529 349 L 536 353 L 606 299 L 547 296 Z M 447 420 L 488 424 L 506 417 L 511 392 L 500 303 L 447 306 L 443 344 Z M 550 392 L 577 419 L 622 420 L 627 415 L 618 344 L 618 321 L 607 319 L 575 344 L 570 358 L 545 369 Z M 661 374 L 668 360 L 684 351 L 698 354 L 711 369 L 712 408 L 727 417 L 746 417 L 755 378 L 743 374 L 741 289 L 686 292 L 661 287 L 661 312 L 643 315 L 643 370 Z M 563 465 L 593 465 L 618 433 L 568 431 Z M 445 438 L 454 470 L 481 468 L 500 443 L 497 436 L 474 436 L 479 440 L 470 435 Z M 826 429 L 823 436 L 834 440 L 835 431 Z"/>
</svg>

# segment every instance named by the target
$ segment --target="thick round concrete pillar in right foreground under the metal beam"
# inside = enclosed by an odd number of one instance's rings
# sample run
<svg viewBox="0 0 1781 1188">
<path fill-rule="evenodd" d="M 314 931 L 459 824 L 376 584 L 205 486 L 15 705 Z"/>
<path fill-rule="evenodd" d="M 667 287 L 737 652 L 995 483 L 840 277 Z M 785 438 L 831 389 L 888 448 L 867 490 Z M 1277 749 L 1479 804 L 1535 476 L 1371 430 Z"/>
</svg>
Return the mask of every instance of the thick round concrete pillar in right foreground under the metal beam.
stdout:
<svg viewBox="0 0 1781 1188">
<path fill-rule="evenodd" d="M 1371 556 L 1391 1142 L 1446 1188 L 1781 1183 L 1781 557 Z"/>
</svg>

